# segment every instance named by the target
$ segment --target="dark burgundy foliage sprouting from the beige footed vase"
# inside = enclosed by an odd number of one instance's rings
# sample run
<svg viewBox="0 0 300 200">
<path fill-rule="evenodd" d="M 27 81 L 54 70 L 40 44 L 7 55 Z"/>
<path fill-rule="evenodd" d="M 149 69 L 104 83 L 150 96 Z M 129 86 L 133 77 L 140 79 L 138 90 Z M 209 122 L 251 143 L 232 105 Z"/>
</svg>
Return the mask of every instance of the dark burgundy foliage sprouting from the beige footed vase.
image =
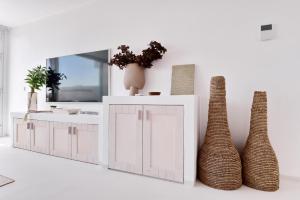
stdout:
<svg viewBox="0 0 300 200">
<path fill-rule="evenodd" d="M 130 63 L 137 63 L 141 67 L 151 68 L 153 66 L 152 62 L 161 59 L 167 49 L 156 41 L 151 41 L 149 46 L 149 48 L 142 51 L 142 54 L 135 55 L 129 50 L 129 46 L 121 45 L 118 47 L 121 52 L 115 54 L 109 64 L 117 65 L 120 69 L 126 68 L 126 65 Z"/>
</svg>

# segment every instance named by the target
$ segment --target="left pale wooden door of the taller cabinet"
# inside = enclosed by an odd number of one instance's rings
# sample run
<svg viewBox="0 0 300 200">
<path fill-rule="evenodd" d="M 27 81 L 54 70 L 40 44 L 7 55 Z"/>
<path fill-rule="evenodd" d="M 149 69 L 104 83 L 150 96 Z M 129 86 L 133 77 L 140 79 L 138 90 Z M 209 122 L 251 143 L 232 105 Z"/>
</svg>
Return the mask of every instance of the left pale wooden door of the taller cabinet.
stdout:
<svg viewBox="0 0 300 200">
<path fill-rule="evenodd" d="M 109 168 L 142 174 L 142 106 L 110 106 Z"/>
</svg>

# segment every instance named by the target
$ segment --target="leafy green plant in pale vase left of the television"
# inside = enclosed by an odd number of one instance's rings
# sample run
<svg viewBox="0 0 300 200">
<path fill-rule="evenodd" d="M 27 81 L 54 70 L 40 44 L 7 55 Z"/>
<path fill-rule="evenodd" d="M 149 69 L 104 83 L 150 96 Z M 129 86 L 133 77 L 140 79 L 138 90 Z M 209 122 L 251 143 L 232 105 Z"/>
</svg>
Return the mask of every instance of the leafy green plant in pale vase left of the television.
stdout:
<svg viewBox="0 0 300 200">
<path fill-rule="evenodd" d="M 25 78 L 26 83 L 30 87 L 28 93 L 28 111 L 37 110 L 37 93 L 36 90 L 40 90 L 47 81 L 47 69 L 41 65 L 28 70 Z"/>
</svg>

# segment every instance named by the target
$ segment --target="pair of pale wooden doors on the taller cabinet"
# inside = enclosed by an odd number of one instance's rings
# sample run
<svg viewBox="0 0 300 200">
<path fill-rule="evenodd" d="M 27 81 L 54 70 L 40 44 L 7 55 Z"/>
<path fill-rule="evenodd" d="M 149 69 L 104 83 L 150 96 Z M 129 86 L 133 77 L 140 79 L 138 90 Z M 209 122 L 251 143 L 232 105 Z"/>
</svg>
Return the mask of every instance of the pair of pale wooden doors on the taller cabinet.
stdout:
<svg viewBox="0 0 300 200">
<path fill-rule="evenodd" d="M 109 168 L 183 183 L 183 106 L 109 109 Z"/>
</svg>

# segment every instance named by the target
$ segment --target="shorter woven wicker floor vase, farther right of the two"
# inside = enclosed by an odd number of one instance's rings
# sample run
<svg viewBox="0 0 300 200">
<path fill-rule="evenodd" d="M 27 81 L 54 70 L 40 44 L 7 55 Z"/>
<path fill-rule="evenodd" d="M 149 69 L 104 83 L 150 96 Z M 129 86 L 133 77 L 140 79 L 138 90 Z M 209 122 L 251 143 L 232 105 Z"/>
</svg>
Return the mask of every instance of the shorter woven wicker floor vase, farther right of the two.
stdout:
<svg viewBox="0 0 300 200">
<path fill-rule="evenodd" d="M 242 155 L 244 184 L 264 191 L 279 189 L 279 167 L 268 138 L 267 94 L 254 93 L 250 133 Z"/>
</svg>

